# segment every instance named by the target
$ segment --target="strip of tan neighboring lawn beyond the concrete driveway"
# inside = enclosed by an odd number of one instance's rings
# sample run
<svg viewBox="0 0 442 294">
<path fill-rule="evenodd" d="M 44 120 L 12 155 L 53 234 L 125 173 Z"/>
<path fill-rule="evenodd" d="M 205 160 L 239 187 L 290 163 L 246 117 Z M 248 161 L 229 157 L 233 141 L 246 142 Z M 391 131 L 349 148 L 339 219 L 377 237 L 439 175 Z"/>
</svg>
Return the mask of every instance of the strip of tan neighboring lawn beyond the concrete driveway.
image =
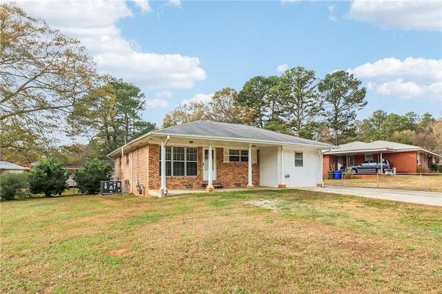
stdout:
<svg viewBox="0 0 442 294">
<path fill-rule="evenodd" d="M 343 179 L 325 179 L 331 186 L 387 188 L 442 192 L 442 174 L 421 175 L 344 175 Z"/>
</svg>

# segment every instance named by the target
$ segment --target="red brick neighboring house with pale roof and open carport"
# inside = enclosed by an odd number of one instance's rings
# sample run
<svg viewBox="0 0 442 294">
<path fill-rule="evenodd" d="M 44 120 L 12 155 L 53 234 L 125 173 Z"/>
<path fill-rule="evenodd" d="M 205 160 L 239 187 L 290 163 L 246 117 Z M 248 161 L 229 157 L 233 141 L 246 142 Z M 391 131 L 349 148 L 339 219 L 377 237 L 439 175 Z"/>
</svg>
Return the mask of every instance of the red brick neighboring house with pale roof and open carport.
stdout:
<svg viewBox="0 0 442 294">
<path fill-rule="evenodd" d="M 388 159 L 396 168 L 396 173 L 416 173 L 418 167 L 430 168 L 431 164 L 442 158 L 441 155 L 419 146 L 390 141 L 355 141 L 339 147 L 324 153 L 323 179 L 327 178 L 327 170 L 356 166 L 365 160 Z"/>
</svg>

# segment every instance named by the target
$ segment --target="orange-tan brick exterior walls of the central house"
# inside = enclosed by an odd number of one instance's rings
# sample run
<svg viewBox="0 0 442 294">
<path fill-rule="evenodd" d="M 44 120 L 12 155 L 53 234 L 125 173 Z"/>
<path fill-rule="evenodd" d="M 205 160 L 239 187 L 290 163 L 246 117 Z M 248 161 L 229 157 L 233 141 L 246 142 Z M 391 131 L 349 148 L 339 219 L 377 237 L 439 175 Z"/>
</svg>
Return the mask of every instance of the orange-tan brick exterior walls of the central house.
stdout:
<svg viewBox="0 0 442 294">
<path fill-rule="evenodd" d="M 184 189 L 188 185 L 193 188 L 202 188 L 202 151 L 203 148 L 198 147 L 198 175 L 194 177 L 166 177 L 168 189 Z M 253 185 L 259 186 L 259 150 L 257 156 L 258 163 L 252 164 L 252 179 Z M 115 177 L 117 180 L 126 180 L 128 193 L 140 195 L 137 190 L 137 179 L 138 183 L 144 187 L 142 195 L 147 195 L 148 190 L 160 190 L 160 146 L 148 144 L 128 153 L 128 158 L 128 164 L 126 164 L 126 155 L 115 158 Z M 133 170 L 131 171 L 132 166 Z M 224 187 L 236 186 L 236 184 L 247 186 L 248 164 L 223 162 L 223 148 L 216 148 L 216 168 L 217 180 L 213 182 L 218 182 Z"/>
</svg>

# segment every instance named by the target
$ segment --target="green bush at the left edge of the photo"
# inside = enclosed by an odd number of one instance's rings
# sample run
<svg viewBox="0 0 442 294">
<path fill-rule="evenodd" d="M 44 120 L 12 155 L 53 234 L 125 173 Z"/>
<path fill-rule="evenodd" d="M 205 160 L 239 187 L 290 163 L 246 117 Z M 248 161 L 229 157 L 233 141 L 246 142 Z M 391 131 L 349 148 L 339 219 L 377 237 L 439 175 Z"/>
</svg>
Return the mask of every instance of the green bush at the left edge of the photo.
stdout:
<svg viewBox="0 0 442 294">
<path fill-rule="evenodd" d="M 21 197 L 23 190 L 29 187 L 28 174 L 3 173 L 0 176 L 0 196 L 2 199 L 15 199 Z"/>
</svg>

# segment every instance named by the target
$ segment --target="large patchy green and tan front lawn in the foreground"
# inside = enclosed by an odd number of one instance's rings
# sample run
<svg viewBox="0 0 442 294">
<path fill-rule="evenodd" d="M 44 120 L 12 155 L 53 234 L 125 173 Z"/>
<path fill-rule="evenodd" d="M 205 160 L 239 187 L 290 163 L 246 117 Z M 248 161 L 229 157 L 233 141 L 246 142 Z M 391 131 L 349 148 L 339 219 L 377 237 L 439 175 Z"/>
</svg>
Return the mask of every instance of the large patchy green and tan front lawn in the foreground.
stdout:
<svg viewBox="0 0 442 294">
<path fill-rule="evenodd" d="M 2 202 L 0 292 L 441 293 L 441 215 L 300 190 Z"/>
</svg>

